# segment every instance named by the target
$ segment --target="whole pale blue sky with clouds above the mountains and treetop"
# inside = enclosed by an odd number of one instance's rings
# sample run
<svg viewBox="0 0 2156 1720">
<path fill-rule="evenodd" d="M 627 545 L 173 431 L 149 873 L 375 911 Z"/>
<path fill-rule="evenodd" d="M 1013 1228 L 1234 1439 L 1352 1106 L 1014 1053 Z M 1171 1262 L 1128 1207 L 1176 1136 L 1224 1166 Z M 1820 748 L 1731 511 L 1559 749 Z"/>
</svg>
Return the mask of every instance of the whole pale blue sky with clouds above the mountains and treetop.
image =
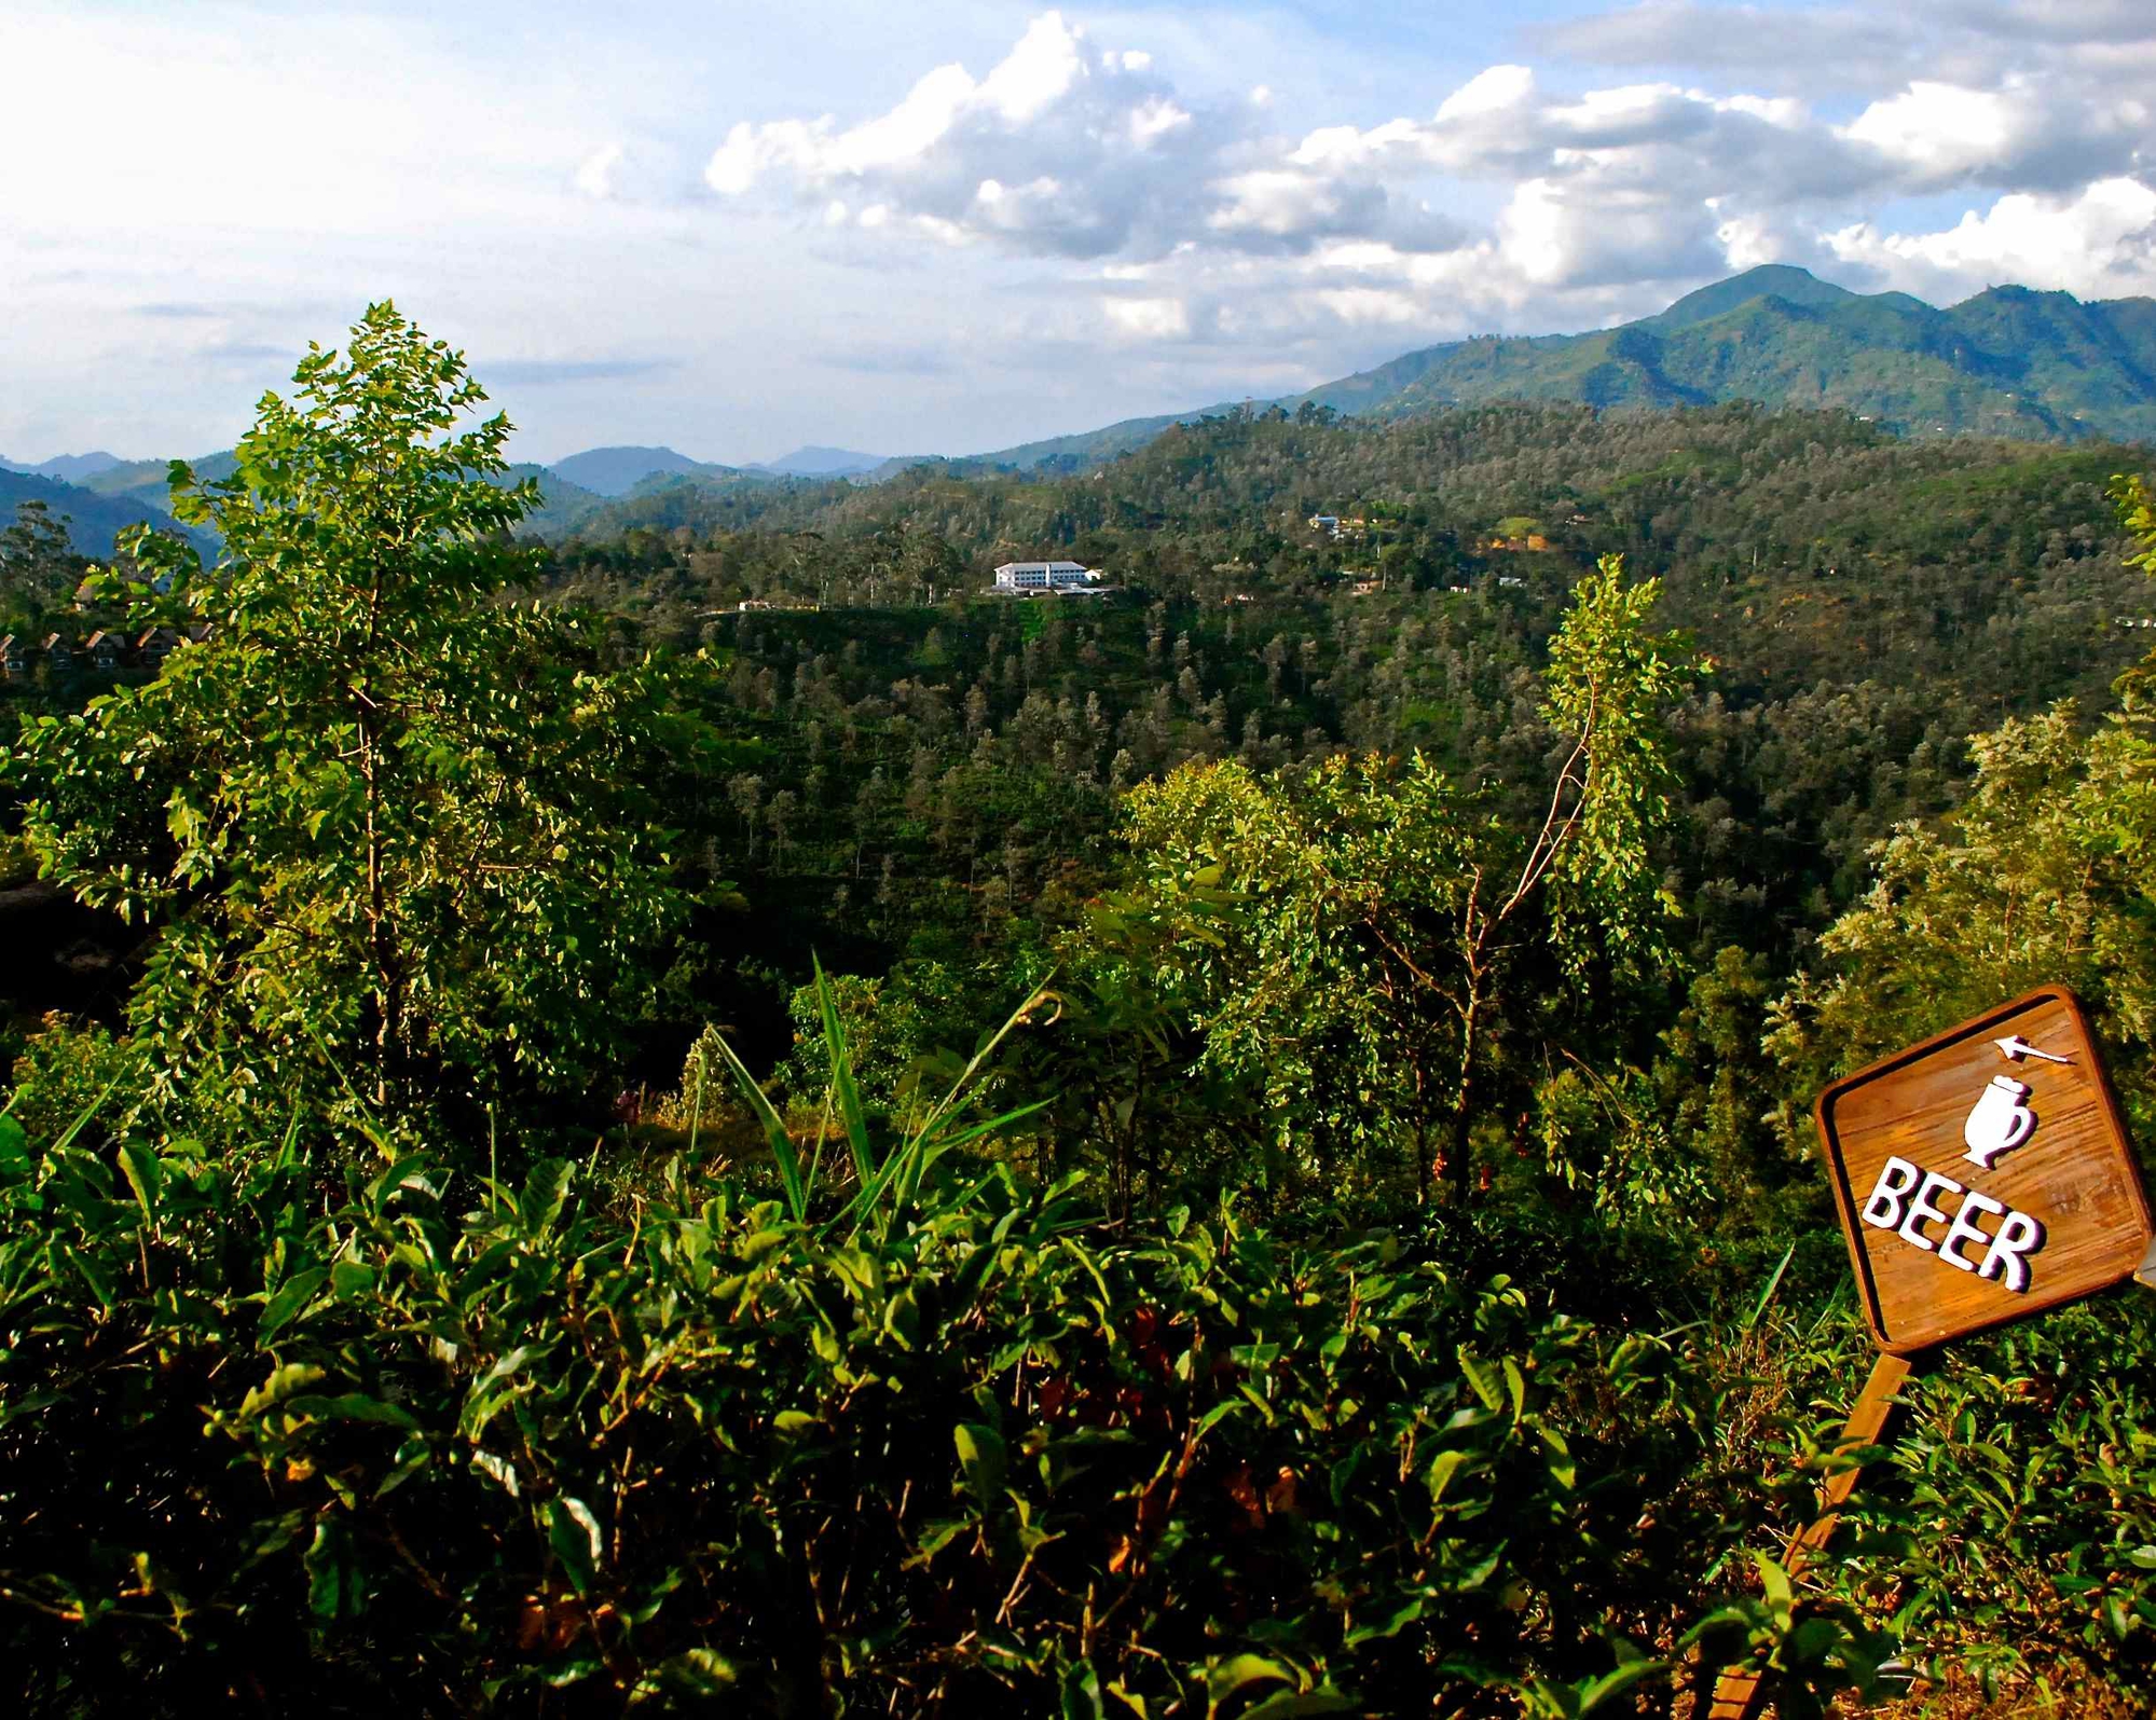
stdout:
<svg viewBox="0 0 2156 1720">
<path fill-rule="evenodd" d="M 2156 4 L 0 0 L 0 455 L 392 297 L 513 453 L 979 453 L 1755 263 L 2156 295 Z"/>
</svg>

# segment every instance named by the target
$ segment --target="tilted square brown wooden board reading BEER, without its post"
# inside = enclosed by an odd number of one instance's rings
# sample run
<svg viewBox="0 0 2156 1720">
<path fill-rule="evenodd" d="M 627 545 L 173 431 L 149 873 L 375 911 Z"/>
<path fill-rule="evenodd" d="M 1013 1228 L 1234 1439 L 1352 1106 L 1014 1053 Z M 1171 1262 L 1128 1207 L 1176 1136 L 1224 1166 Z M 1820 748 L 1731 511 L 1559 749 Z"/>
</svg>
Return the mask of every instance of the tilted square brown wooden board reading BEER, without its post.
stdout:
<svg viewBox="0 0 2156 1720">
<path fill-rule="evenodd" d="M 2050 985 L 1820 1095 L 1865 1319 L 1919 1349 L 2132 1278 L 2150 1207 L 2081 1002 Z"/>
</svg>

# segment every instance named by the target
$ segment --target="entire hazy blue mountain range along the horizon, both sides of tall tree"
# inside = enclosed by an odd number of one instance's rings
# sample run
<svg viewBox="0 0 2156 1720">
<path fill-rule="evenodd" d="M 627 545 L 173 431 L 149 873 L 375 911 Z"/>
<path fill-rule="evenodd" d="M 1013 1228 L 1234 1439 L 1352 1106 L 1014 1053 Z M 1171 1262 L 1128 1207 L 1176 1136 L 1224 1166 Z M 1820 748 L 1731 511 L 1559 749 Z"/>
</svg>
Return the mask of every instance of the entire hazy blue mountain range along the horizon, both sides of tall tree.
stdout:
<svg viewBox="0 0 2156 1720">
<path fill-rule="evenodd" d="M 1102 429 L 949 461 L 955 472 L 1089 470 L 1169 425 L 1235 410 L 1304 405 L 1397 418 L 1483 401 L 1583 401 L 1651 410 L 1759 401 L 1839 407 L 1902 435 L 2005 435 L 2156 442 L 2156 300 L 2083 302 L 2072 293 L 1990 287 L 1951 308 L 1908 293 L 1852 293 L 1809 269 L 1768 263 L 1688 293 L 1667 310 L 1589 334 L 1479 336 L 1419 347 L 1369 371 L 1270 401 L 1123 418 Z M 774 461 L 718 466 L 664 446 L 608 446 L 520 466 L 545 496 L 535 526 L 576 530 L 612 502 L 675 485 L 875 481 L 940 457 L 884 459 L 806 446 Z M 229 453 L 194 461 L 205 478 Z M 52 485 L 54 494 L 19 491 Z M 106 554 L 134 519 L 166 511 L 166 461 L 108 453 L 39 466 L 0 459 L 0 507 L 17 491 L 75 517 L 78 547 Z"/>
</svg>

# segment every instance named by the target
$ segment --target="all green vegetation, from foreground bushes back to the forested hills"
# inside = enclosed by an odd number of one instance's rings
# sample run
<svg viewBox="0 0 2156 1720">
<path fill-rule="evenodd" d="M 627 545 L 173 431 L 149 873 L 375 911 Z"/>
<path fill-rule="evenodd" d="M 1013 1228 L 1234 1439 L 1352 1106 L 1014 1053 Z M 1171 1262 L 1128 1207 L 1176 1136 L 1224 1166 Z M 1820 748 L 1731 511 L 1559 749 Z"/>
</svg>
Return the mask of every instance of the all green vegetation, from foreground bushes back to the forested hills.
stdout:
<svg viewBox="0 0 2156 1720">
<path fill-rule="evenodd" d="M 2145 1711 L 2139 1289 L 1781 1563 L 1813 1093 L 2070 983 L 2156 1123 L 2143 448 L 1307 403 L 569 517 L 483 401 L 377 306 L 185 535 L 0 539 L 24 1711 Z"/>
</svg>

